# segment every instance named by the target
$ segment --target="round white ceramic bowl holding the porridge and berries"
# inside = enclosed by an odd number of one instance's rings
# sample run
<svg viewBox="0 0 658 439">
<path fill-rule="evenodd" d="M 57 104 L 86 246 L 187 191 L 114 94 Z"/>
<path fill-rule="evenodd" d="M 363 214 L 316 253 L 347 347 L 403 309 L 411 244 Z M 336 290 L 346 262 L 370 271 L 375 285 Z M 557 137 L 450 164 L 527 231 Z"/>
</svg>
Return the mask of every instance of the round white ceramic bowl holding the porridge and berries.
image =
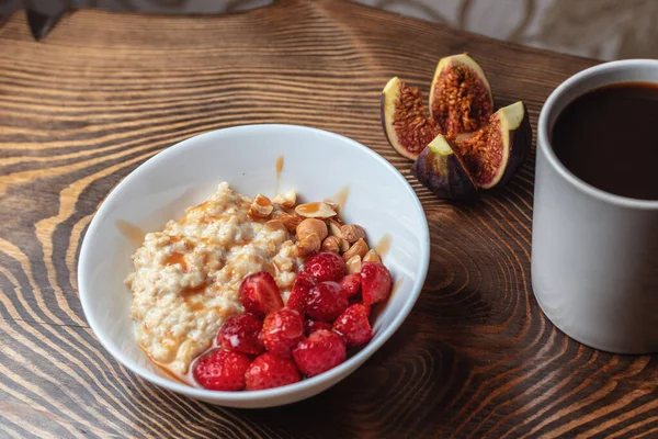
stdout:
<svg viewBox="0 0 658 439">
<path fill-rule="evenodd" d="M 283 156 L 280 192 L 296 189 L 321 200 L 349 188 L 342 215 L 362 225 L 371 243 L 392 237 L 384 258 L 400 282 L 374 322 L 375 336 L 344 363 L 279 389 L 215 392 L 166 378 L 137 346 L 131 292 L 123 280 L 138 244 L 117 228 L 128 222 L 145 232 L 162 229 L 184 209 L 201 203 L 228 181 L 253 196 L 273 195 L 275 162 Z M 405 178 L 384 158 L 337 134 L 292 125 L 249 125 L 206 133 L 152 157 L 123 180 L 91 222 L 78 264 L 82 308 L 101 344 L 121 363 L 154 384 L 189 397 L 231 407 L 270 407 L 316 395 L 371 357 L 400 326 L 416 303 L 429 264 L 430 240 L 422 206 Z"/>
</svg>

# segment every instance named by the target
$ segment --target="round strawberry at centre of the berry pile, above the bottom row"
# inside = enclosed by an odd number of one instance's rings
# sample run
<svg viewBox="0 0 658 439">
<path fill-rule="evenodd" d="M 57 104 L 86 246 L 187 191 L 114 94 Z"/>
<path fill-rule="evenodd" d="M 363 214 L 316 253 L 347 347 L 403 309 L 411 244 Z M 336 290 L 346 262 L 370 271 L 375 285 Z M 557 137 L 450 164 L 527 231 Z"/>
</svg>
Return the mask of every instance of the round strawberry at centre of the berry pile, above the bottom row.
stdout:
<svg viewBox="0 0 658 439">
<path fill-rule="evenodd" d="M 304 338 L 304 320 L 294 309 L 274 311 L 265 317 L 260 339 L 266 350 L 283 358 Z"/>
</svg>

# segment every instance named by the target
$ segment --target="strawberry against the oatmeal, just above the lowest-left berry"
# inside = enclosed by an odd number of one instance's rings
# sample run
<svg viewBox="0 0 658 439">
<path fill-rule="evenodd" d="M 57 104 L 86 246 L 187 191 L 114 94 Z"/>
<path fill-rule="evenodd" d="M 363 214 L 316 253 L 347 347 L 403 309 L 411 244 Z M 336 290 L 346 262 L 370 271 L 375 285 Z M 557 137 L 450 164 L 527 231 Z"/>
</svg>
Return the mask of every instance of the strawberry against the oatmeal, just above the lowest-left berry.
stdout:
<svg viewBox="0 0 658 439">
<path fill-rule="evenodd" d="M 217 334 L 217 345 L 234 352 L 258 356 L 263 350 L 259 335 L 263 322 L 253 314 L 239 314 L 222 325 Z"/>
</svg>

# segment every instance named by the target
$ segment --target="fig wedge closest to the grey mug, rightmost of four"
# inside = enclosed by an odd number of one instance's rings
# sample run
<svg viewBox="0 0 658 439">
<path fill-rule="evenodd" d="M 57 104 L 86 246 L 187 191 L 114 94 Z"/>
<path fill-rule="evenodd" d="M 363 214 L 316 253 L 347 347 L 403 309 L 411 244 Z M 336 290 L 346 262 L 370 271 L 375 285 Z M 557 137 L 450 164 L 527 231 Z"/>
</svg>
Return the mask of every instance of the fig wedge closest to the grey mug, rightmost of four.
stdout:
<svg viewBox="0 0 658 439">
<path fill-rule="evenodd" d="M 475 184 L 490 189 L 510 180 L 532 144 L 532 127 L 521 101 L 503 106 L 475 133 L 460 135 L 453 147 L 462 157 Z"/>
</svg>

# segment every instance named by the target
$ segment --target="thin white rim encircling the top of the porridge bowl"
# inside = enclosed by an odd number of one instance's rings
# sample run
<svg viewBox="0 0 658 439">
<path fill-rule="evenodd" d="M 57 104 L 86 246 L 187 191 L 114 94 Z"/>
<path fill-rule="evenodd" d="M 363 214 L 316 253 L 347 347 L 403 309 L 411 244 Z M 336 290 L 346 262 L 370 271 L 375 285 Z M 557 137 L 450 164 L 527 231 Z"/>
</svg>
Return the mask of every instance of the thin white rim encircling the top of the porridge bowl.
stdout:
<svg viewBox="0 0 658 439">
<path fill-rule="evenodd" d="M 92 305 L 91 296 L 90 296 L 90 294 L 86 293 L 86 291 L 88 291 L 87 283 L 89 282 L 87 272 L 90 270 L 90 268 L 87 266 L 86 261 L 89 259 L 88 255 L 90 255 L 93 251 L 93 249 L 90 247 L 91 246 L 90 245 L 91 237 L 98 233 L 99 227 L 101 226 L 102 218 L 104 216 L 106 216 L 107 210 L 110 209 L 112 201 L 115 200 L 116 198 L 121 196 L 121 193 L 124 192 L 127 187 L 129 187 L 132 179 L 135 178 L 135 176 L 137 173 L 144 171 L 145 169 L 148 169 L 151 167 L 157 167 L 161 160 L 164 160 L 168 156 L 175 154 L 178 150 L 180 150 L 184 147 L 191 146 L 191 144 L 195 144 L 198 140 L 207 138 L 207 137 L 223 136 L 223 135 L 236 134 L 236 133 L 239 134 L 240 132 L 246 132 L 246 133 L 253 132 L 253 131 L 266 132 L 266 131 L 272 131 L 272 130 L 274 130 L 274 131 L 276 131 L 276 130 L 293 131 L 293 132 L 296 132 L 296 133 L 294 133 L 295 135 L 304 135 L 307 133 L 319 134 L 319 135 L 330 137 L 337 142 L 347 143 L 347 144 L 351 145 L 352 147 L 361 149 L 367 156 L 370 156 L 373 160 L 376 160 L 379 164 L 384 165 L 384 167 L 388 168 L 388 170 L 394 173 L 395 178 L 401 184 L 405 185 L 405 188 L 407 189 L 407 192 L 413 200 L 412 203 L 415 204 L 415 207 L 416 207 L 416 214 L 420 215 L 422 229 L 418 230 L 418 232 L 420 235 L 424 236 L 424 239 L 421 240 L 421 246 L 420 246 L 421 248 L 420 248 L 419 264 L 418 264 L 420 268 L 420 270 L 418 272 L 419 275 L 413 281 L 413 284 L 411 286 L 411 292 L 408 295 L 408 297 L 406 299 L 406 301 L 402 303 L 400 312 L 394 317 L 392 324 L 388 325 L 387 327 L 385 327 L 379 333 L 379 337 L 373 338 L 373 340 L 371 342 L 368 342 L 365 347 L 363 347 L 354 356 L 350 357 L 347 361 L 342 362 L 341 364 L 337 365 L 333 369 L 328 370 L 327 372 L 320 373 L 319 375 L 308 378 L 308 379 L 302 380 L 297 383 L 284 385 L 281 387 L 260 390 L 260 391 L 248 391 L 248 392 L 245 392 L 245 391 L 242 391 L 242 392 L 211 391 L 211 390 L 205 390 L 205 389 L 200 389 L 200 387 L 193 387 L 191 385 L 186 385 L 183 383 L 178 383 L 173 380 L 159 376 L 154 372 L 150 372 L 144 368 L 140 368 L 139 365 L 132 364 L 133 363 L 132 360 L 128 360 L 127 357 L 124 356 L 118 349 L 113 348 L 113 344 L 110 341 L 110 337 L 107 337 L 100 329 L 100 326 L 97 323 L 97 320 L 93 317 L 91 317 L 92 316 L 92 314 L 91 314 L 91 305 Z M 325 382 L 331 382 L 332 384 L 334 384 L 338 381 L 342 380 L 342 378 L 345 378 L 348 374 L 353 372 L 363 362 L 365 362 L 373 353 L 375 353 L 393 336 L 393 334 L 395 334 L 395 331 L 397 331 L 397 329 L 401 326 L 402 322 L 407 318 L 407 316 L 411 312 L 411 308 L 416 304 L 416 302 L 420 295 L 420 292 L 422 291 L 422 286 L 424 284 L 424 280 L 427 278 L 427 273 L 428 273 L 428 269 L 429 269 L 429 263 L 430 263 L 430 232 L 429 232 L 429 226 L 428 226 L 428 222 L 427 222 L 427 216 L 424 214 L 424 210 L 422 207 L 420 200 L 418 199 L 418 195 L 413 191 L 413 188 L 411 187 L 411 184 L 409 184 L 407 179 L 388 160 L 386 160 L 384 157 L 382 157 L 379 154 L 377 154 L 373 149 L 360 144 L 356 140 L 353 140 L 349 137 L 342 136 L 340 134 L 331 133 L 328 131 L 313 128 L 313 127 L 308 127 L 308 126 L 302 126 L 302 125 L 253 124 L 253 125 L 239 125 L 239 126 L 231 126 L 231 127 L 227 127 L 227 128 L 214 130 L 214 131 L 206 132 L 206 133 L 203 133 L 203 134 L 200 134 L 196 136 L 189 137 L 184 140 L 181 140 L 181 142 L 168 147 L 167 149 L 158 153 L 157 155 L 150 157 L 145 162 L 139 165 L 137 168 L 135 168 L 131 173 L 128 173 L 128 176 L 126 176 L 126 178 L 124 178 L 122 181 L 120 181 L 110 191 L 110 193 L 103 200 L 101 206 L 95 212 L 93 218 L 91 219 L 89 227 L 87 229 L 87 233 L 84 234 L 82 245 L 80 248 L 80 256 L 78 259 L 77 271 L 78 271 L 78 291 L 79 291 L 80 302 L 82 304 L 82 312 L 84 313 L 84 317 L 87 318 L 87 322 L 89 323 L 89 326 L 91 327 L 93 334 L 95 335 L 98 340 L 101 342 L 101 346 L 107 352 L 110 352 L 110 354 L 114 359 L 116 359 L 122 365 L 126 367 L 133 373 L 145 379 L 146 381 L 148 381 L 152 384 L 159 385 L 169 391 L 179 393 L 179 394 L 184 394 L 184 395 L 193 397 L 193 398 L 200 398 L 200 399 L 206 399 L 206 401 L 207 399 L 216 399 L 216 401 L 224 401 L 226 403 L 240 403 L 240 402 L 249 402 L 249 401 L 261 399 L 261 398 L 268 398 L 268 399 L 276 398 L 276 397 L 282 397 L 282 396 L 284 396 L 286 394 L 291 394 L 291 393 L 294 393 L 294 394 L 304 393 L 305 391 L 310 391 L 314 387 L 316 387 Z M 336 381 L 337 379 L 338 379 L 338 381 Z M 336 382 L 333 382 L 333 381 L 336 381 Z"/>
</svg>

